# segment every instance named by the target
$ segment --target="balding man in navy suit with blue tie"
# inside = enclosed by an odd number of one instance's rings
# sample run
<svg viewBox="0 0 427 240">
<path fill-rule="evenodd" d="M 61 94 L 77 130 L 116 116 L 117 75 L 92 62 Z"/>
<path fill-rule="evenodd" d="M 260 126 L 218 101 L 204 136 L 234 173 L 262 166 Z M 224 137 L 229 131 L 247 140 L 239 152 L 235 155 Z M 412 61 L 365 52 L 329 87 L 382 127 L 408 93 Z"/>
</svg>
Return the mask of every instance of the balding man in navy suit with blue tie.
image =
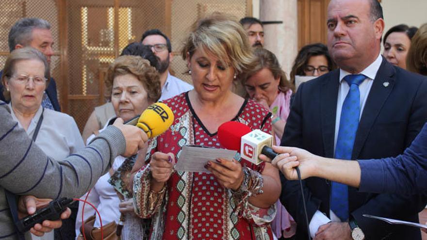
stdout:
<svg viewBox="0 0 427 240">
<path fill-rule="evenodd" d="M 331 0 L 327 26 L 328 49 L 340 69 L 300 85 L 281 145 L 348 160 L 403 153 L 427 121 L 426 78 L 380 55 L 384 20 L 378 0 Z M 299 185 L 281 180 L 280 200 L 296 220 L 296 239 L 307 239 Z M 418 228 L 362 214 L 418 222 L 426 195 L 361 193 L 317 177 L 303 185 L 316 240 L 421 239 Z"/>
</svg>

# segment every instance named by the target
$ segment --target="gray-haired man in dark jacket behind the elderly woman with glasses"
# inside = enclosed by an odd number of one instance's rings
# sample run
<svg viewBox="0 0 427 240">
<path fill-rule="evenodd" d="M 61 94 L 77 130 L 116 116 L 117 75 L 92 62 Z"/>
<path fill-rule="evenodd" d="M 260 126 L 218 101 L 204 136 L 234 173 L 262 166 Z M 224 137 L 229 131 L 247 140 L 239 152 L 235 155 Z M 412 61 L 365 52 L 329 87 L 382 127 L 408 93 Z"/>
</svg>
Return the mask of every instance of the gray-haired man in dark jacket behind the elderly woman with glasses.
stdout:
<svg viewBox="0 0 427 240">
<path fill-rule="evenodd" d="M 24 47 L 33 47 L 40 50 L 45 54 L 50 64 L 50 57 L 53 55 L 53 38 L 48 21 L 40 18 L 19 19 L 9 31 L 8 42 L 10 51 Z M 0 79 L 2 74 L 3 70 L 0 72 Z M 0 100 L 5 101 L 3 89 L 3 85 L 0 82 Z M 56 92 L 56 82 L 53 78 L 50 79 L 49 86 L 46 88 L 42 106 L 61 111 Z"/>
</svg>

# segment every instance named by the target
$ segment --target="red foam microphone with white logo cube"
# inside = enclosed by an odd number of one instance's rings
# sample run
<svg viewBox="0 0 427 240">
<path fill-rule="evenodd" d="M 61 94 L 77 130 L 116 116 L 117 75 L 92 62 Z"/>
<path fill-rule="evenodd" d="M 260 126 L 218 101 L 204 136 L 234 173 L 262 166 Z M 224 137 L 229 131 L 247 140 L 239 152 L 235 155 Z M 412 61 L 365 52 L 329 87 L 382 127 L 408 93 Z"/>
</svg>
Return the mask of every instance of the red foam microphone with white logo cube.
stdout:
<svg viewBox="0 0 427 240">
<path fill-rule="evenodd" d="M 273 151 L 271 144 L 273 136 L 259 129 L 251 130 L 239 122 L 226 122 L 218 128 L 218 141 L 227 149 L 240 152 L 240 156 L 254 164 L 262 162 L 258 158 L 264 154 L 274 159 L 278 154 Z"/>
</svg>

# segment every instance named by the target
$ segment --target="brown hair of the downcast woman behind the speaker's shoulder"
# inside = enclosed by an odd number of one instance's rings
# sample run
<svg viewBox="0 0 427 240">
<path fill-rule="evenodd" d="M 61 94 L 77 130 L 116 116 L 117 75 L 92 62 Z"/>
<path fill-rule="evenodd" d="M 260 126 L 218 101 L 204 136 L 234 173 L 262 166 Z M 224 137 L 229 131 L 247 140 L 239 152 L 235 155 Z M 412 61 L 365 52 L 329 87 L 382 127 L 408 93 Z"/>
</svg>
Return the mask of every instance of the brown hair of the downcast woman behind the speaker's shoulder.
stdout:
<svg viewBox="0 0 427 240">
<path fill-rule="evenodd" d="M 285 72 L 282 70 L 279 64 L 279 60 L 277 60 L 276 55 L 264 48 L 255 48 L 254 50 L 254 64 L 255 66 L 248 71 L 246 71 L 241 77 L 241 82 L 245 85 L 246 81 L 255 75 L 257 72 L 263 70 L 263 68 L 267 68 L 273 74 L 273 77 L 279 80 L 279 90 L 281 92 L 286 92 L 289 89 L 294 91 L 295 86 L 288 80 Z"/>
</svg>

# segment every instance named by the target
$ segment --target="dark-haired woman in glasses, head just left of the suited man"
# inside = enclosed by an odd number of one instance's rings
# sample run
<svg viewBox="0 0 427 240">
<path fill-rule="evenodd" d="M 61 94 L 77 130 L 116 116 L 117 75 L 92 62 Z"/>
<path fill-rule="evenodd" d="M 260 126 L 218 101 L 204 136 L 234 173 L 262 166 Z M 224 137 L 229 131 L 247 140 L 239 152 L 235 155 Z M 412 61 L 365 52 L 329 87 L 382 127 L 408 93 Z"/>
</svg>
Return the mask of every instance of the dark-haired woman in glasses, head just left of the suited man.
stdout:
<svg viewBox="0 0 427 240">
<path fill-rule="evenodd" d="M 322 76 L 335 69 L 328 47 L 322 43 L 302 47 L 296 55 L 291 70 L 291 82 L 296 86 L 295 76 Z"/>
</svg>

